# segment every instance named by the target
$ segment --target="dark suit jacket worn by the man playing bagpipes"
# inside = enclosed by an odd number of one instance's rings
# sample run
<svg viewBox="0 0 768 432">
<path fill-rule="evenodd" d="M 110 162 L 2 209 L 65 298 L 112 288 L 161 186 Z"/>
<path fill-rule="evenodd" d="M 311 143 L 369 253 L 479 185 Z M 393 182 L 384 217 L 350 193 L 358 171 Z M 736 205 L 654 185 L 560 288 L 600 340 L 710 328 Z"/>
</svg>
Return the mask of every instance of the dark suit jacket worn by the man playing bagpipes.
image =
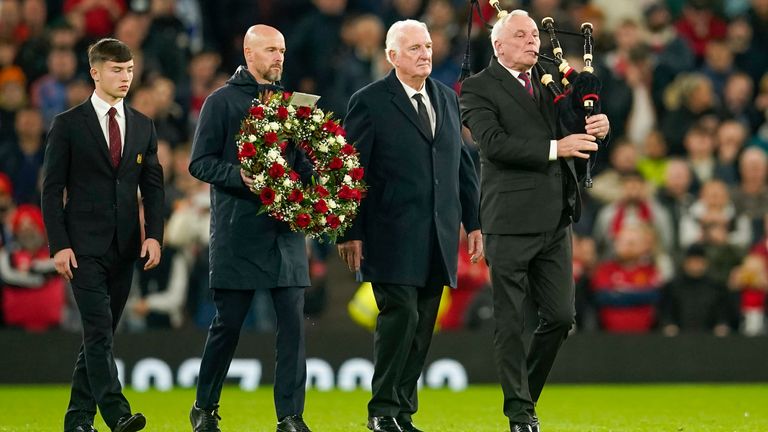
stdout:
<svg viewBox="0 0 768 432">
<path fill-rule="evenodd" d="M 493 58 L 462 85 L 462 118 L 480 147 L 485 234 L 550 231 L 564 209 L 573 220 L 581 214 L 574 161 L 549 160 L 550 141 L 569 132 L 557 121 L 554 96 L 535 70 L 531 82 L 535 98 Z"/>
</svg>

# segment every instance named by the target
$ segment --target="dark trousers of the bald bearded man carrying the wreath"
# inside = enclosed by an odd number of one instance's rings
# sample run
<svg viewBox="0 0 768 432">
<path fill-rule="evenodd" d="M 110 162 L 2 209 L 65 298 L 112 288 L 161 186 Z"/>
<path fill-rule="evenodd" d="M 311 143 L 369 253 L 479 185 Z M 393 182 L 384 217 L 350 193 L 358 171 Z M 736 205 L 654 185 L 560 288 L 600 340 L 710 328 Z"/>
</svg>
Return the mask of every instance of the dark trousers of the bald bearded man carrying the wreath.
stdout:
<svg viewBox="0 0 768 432">
<path fill-rule="evenodd" d="M 212 409 L 219 405 L 221 389 L 254 293 L 254 290 L 213 290 L 216 316 L 208 330 L 200 364 L 196 400 L 200 408 Z M 304 288 L 275 288 L 269 293 L 277 317 L 274 397 L 277 418 L 281 419 L 304 412 L 304 386 L 307 381 Z"/>
</svg>

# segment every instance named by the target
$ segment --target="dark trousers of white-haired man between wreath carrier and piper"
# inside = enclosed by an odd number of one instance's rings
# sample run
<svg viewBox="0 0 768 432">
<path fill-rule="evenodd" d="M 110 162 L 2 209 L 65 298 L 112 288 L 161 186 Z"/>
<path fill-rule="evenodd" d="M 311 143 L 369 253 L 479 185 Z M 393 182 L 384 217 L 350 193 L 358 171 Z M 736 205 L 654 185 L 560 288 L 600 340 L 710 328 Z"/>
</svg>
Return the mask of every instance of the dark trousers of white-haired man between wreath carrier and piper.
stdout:
<svg viewBox="0 0 768 432">
<path fill-rule="evenodd" d="M 374 372 L 368 415 L 411 421 L 418 410 L 417 383 L 435 329 L 445 270 L 432 254 L 425 286 L 373 283 L 379 315 L 373 337 Z"/>
</svg>

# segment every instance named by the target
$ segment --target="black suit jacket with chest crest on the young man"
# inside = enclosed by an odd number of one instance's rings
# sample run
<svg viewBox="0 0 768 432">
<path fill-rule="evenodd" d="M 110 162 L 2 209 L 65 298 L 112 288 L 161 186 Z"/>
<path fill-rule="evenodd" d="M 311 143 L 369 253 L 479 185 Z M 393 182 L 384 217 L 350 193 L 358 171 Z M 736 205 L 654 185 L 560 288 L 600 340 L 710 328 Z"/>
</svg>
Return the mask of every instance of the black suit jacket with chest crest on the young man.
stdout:
<svg viewBox="0 0 768 432">
<path fill-rule="evenodd" d="M 125 106 L 125 143 L 117 170 L 90 99 L 59 114 L 48 132 L 43 217 L 51 255 L 103 255 L 116 237 L 120 254 L 141 249 L 139 201 L 147 238 L 163 242 L 163 169 L 152 120 Z"/>
</svg>

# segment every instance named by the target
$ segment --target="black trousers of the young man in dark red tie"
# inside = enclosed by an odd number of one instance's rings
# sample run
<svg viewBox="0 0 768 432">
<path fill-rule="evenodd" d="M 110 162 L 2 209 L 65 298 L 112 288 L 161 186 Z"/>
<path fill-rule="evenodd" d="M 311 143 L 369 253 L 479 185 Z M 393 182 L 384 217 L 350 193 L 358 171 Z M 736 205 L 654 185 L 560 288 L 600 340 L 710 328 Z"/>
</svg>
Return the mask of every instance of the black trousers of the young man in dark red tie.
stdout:
<svg viewBox="0 0 768 432">
<path fill-rule="evenodd" d="M 72 292 L 80 310 L 83 343 L 72 374 L 65 431 L 92 424 L 97 406 L 110 428 L 131 413 L 117 379 L 112 344 L 131 289 L 134 263 L 134 258 L 120 256 L 113 241 L 103 256 L 77 256 L 78 267 L 72 268 Z"/>
</svg>

